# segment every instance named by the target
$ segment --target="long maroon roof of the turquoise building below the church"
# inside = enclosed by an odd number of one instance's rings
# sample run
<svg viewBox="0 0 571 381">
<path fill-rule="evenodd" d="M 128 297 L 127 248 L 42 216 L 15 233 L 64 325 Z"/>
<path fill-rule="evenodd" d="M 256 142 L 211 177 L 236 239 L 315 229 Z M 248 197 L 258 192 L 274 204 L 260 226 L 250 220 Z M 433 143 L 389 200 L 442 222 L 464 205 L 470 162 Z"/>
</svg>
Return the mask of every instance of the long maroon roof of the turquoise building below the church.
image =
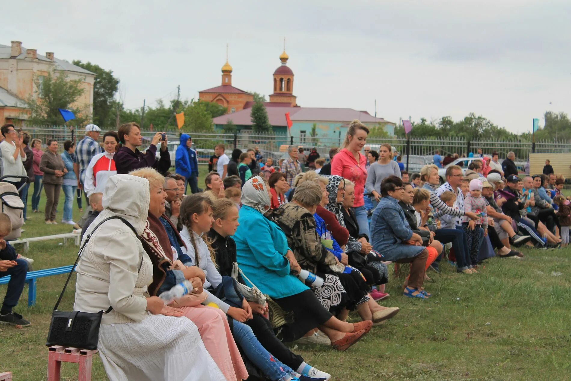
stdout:
<svg viewBox="0 0 571 381">
<path fill-rule="evenodd" d="M 266 107 L 272 126 L 286 126 L 286 113 L 292 122 L 351 122 L 359 119 L 364 123 L 388 122 L 383 118 L 375 118 L 367 111 L 353 109 L 329 109 L 326 107 Z M 231 119 L 235 125 L 251 126 L 251 109 L 244 109 L 233 114 L 226 114 L 213 119 L 215 125 L 225 125 Z M 391 122 L 388 122 L 391 123 Z"/>
</svg>

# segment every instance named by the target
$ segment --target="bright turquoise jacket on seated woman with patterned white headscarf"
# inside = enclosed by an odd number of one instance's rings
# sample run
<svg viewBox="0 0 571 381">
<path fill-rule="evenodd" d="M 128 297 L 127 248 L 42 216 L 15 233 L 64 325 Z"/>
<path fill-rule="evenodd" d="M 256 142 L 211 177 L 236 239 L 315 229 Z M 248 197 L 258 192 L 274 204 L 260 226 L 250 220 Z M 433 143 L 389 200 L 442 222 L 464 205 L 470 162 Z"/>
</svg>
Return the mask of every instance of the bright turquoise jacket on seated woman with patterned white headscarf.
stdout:
<svg viewBox="0 0 571 381">
<path fill-rule="evenodd" d="M 279 299 L 309 289 L 289 274 L 286 234 L 278 225 L 246 205 L 240 208 L 238 222 L 240 226 L 232 236 L 236 242 L 236 261 L 260 291 Z"/>
</svg>

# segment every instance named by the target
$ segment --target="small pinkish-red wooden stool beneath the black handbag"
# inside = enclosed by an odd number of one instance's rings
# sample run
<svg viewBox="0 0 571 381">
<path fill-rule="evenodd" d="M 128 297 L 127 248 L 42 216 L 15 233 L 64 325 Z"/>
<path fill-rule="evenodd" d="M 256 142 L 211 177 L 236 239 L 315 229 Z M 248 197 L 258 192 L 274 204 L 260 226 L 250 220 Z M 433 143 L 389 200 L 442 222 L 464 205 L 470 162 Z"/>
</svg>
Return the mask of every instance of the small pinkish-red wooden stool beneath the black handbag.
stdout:
<svg viewBox="0 0 571 381">
<path fill-rule="evenodd" d="M 79 364 L 78 381 L 91 381 L 91 361 L 97 350 L 55 345 L 47 355 L 47 381 L 59 381 L 62 362 Z"/>
</svg>

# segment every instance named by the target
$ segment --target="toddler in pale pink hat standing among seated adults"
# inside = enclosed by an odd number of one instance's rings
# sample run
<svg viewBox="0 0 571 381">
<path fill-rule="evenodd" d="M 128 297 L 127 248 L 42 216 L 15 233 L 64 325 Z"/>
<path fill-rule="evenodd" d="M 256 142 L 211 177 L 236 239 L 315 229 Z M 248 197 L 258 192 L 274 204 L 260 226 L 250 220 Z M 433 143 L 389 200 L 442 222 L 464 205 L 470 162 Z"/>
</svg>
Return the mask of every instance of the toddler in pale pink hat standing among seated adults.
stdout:
<svg viewBox="0 0 571 381">
<path fill-rule="evenodd" d="M 482 196 L 482 182 L 480 179 L 473 179 L 470 182 L 470 194 L 464 199 L 464 210 L 474 212 L 478 216 L 476 220 L 472 220 L 467 216 L 462 217 L 462 227 L 466 232 L 472 266 L 475 266 L 478 264 L 478 254 L 482 239 L 488 234 L 486 199 Z"/>
</svg>

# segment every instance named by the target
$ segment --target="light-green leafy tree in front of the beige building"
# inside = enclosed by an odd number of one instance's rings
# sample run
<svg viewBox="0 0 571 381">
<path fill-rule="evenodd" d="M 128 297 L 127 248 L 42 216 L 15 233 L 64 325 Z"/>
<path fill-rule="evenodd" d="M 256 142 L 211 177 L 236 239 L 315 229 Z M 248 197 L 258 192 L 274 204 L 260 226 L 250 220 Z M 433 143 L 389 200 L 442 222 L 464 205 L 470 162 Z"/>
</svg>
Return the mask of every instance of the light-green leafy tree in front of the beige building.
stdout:
<svg viewBox="0 0 571 381">
<path fill-rule="evenodd" d="M 35 75 L 35 93 L 26 99 L 29 109 L 29 123 L 33 125 L 63 125 L 58 109 L 70 110 L 75 114 L 74 125 L 85 123 L 89 115 L 89 106 L 79 109 L 73 106 L 83 94 L 82 82 L 85 78 L 68 79 L 63 71 L 50 71 L 47 75 Z"/>
</svg>

